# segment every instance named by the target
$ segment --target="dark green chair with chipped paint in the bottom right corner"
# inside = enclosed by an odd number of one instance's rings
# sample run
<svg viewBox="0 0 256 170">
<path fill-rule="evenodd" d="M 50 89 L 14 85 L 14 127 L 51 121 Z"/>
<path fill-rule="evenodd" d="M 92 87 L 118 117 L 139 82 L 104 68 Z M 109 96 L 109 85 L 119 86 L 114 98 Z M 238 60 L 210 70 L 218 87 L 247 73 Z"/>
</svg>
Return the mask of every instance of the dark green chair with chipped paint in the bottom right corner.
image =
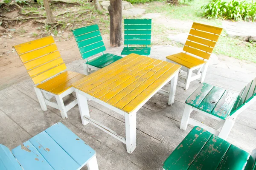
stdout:
<svg viewBox="0 0 256 170">
<path fill-rule="evenodd" d="M 251 155 L 224 139 L 195 126 L 164 161 L 164 170 L 255 170 Z"/>
</svg>

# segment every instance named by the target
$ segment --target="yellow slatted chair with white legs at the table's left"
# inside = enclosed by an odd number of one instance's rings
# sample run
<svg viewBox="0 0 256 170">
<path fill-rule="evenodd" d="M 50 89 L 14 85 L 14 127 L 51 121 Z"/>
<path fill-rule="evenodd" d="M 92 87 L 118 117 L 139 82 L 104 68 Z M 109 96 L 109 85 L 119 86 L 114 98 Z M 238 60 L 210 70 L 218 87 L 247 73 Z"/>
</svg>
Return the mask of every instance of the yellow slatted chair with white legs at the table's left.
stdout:
<svg viewBox="0 0 256 170">
<path fill-rule="evenodd" d="M 14 48 L 35 83 L 35 93 L 42 110 L 47 111 L 46 105 L 49 105 L 67 119 L 67 111 L 77 104 L 77 99 L 65 106 L 63 97 L 75 91 L 71 84 L 85 75 L 64 71 L 66 65 L 52 36 L 15 45 Z M 54 96 L 57 103 L 50 101 Z"/>
</svg>

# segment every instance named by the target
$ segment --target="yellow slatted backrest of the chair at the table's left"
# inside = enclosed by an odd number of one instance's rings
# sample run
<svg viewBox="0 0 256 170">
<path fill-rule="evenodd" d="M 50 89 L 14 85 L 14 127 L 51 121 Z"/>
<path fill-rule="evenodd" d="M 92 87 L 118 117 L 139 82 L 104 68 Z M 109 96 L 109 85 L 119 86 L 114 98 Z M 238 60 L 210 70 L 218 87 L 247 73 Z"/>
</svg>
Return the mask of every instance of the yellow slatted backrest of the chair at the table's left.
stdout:
<svg viewBox="0 0 256 170">
<path fill-rule="evenodd" d="M 14 46 L 35 84 L 66 69 L 52 36 Z"/>
</svg>

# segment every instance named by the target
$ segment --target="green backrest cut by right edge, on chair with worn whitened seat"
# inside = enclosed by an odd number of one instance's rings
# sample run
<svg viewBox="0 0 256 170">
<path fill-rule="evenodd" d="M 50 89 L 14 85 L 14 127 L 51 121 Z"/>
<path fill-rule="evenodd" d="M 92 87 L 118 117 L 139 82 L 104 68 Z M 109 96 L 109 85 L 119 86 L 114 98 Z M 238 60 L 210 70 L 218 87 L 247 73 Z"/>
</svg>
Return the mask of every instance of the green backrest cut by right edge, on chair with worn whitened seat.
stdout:
<svg viewBox="0 0 256 170">
<path fill-rule="evenodd" d="M 231 110 L 230 116 L 254 97 L 256 97 L 256 78 L 241 90 Z"/>
</svg>

